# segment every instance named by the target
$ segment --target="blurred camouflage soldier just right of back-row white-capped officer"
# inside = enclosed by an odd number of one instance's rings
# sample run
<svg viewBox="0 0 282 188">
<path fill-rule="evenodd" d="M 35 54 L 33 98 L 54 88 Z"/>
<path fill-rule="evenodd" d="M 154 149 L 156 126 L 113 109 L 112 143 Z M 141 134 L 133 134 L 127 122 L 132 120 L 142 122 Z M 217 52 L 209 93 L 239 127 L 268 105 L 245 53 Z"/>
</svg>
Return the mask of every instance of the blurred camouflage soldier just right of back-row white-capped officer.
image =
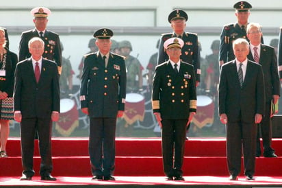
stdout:
<svg viewBox="0 0 282 188">
<path fill-rule="evenodd" d="M 64 50 L 64 46 L 61 43 L 61 49 Z M 73 91 L 73 68 L 71 67 L 71 56 L 64 58 L 62 56 L 62 73 L 60 76 L 60 93 L 61 97 L 68 97 L 68 95 Z"/>
</svg>

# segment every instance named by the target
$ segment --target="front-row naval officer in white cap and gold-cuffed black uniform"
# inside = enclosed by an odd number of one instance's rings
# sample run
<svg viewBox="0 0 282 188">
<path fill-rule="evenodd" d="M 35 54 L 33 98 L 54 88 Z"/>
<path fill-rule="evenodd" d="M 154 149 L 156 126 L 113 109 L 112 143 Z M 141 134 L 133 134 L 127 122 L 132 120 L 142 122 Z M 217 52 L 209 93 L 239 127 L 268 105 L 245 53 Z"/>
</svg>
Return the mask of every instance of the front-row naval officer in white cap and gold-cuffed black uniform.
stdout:
<svg viewBox="0 0 282 188">
<path fill-rule="evenodd" d="M 186 128 L 196 114 L 193 66 L 180 60 L 180 38 L 169 38 L 164 49 L 169 60 L 159 64 L 153 78 L 153 113 L 162 128 L 162 156 L 167 180 L 184 180 L 182 164 Z"/>
</svg>

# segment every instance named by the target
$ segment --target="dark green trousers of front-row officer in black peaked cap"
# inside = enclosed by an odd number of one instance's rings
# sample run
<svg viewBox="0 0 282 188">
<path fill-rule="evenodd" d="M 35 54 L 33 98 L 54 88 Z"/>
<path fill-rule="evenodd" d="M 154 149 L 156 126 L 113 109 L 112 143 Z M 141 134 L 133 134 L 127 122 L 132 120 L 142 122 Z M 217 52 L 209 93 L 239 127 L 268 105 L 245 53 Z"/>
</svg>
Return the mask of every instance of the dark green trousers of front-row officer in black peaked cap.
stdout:
<svg viewBox="0 0 282 188">
<path fill-rule="evenodd" d="M 89 155 L 93 176 L 112 176 L 116 156 L 116 118 L 90 118 Z"/>
</svg>

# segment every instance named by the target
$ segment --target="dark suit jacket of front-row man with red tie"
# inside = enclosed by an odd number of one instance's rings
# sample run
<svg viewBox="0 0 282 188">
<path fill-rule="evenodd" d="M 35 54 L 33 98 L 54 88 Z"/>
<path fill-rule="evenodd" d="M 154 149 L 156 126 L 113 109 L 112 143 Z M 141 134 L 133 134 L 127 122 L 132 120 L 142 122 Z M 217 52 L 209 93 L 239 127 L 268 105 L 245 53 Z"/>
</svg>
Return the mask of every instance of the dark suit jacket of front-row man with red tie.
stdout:
<svg viewBox="0 0 282 188">
<path fill-rule="evenodd" d="M 15 71 L 14 110 L 23 118 L 51 117 L 60 112 L 60 87 L 57 64 L 42 59 L 40 80 L 36 83 L 31 58 L 18 62 Z"/>
</svg>

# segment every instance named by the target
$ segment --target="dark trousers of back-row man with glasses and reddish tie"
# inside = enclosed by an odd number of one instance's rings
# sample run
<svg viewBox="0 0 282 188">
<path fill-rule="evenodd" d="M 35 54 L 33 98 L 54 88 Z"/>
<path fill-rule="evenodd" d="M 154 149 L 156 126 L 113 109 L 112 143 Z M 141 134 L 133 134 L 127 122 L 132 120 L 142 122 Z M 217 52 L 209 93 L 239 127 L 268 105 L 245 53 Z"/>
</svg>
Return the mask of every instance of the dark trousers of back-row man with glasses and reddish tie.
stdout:
<svg viewBox="0 0 282 188">
<path fill-rule="evenodd" d="M 264 152 L 273 152 L 271 148 L 272 142 L 272 124 L 270 118 L 271 102 L 266 103 L 265 116 L 257 127 L 257 154 L 261 153 L 260 136 L 264 145 Z"/>
</svg>

